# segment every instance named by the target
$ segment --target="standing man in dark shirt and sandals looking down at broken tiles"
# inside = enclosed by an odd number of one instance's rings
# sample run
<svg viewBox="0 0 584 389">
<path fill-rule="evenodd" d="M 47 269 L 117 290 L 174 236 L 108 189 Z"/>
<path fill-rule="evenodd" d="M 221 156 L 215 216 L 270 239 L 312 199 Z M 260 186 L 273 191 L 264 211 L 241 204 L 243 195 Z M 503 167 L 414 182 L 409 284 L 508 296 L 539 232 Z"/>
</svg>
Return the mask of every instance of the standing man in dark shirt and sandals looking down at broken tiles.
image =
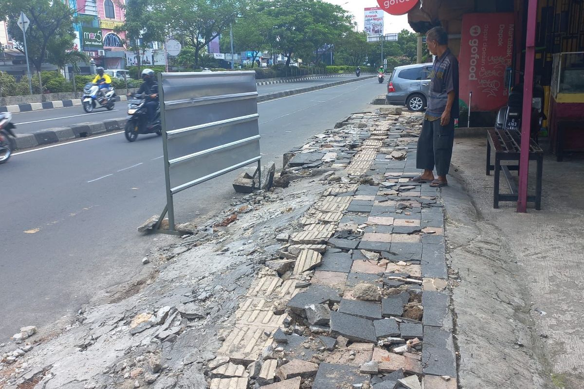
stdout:
<svg viewBox="0 0 584 389">
<path fill-rule="evenodd" d="M 448 185 L 446 175 L 454 145 L 454 119 L 458 118 L 458 61 L 448 48 L 448 34 L 442 27 L 428 31 L 426 43 L 436 60 L 426 116 L 418 139 L 416 167 L 424 172 L 412 181 L 429 182 L 431 187 L 442 188 Z M 435 179 L 434 166 L 438 176 Z"/>
</svg>

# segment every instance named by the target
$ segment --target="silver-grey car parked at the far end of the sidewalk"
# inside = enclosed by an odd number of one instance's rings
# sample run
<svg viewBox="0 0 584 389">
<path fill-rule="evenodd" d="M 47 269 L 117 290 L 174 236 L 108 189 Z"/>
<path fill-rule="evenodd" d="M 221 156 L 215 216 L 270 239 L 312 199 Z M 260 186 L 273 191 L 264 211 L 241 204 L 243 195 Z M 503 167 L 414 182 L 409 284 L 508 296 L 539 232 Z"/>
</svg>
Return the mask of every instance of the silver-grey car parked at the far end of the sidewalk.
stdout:
<svg viewBox="0 0 584 389">
<path fill-rule="evenodd" d="M 387 83 L 387 103 L 423 111 L 428 101 L 432 64 L 397 66 Z"/>
</svg>

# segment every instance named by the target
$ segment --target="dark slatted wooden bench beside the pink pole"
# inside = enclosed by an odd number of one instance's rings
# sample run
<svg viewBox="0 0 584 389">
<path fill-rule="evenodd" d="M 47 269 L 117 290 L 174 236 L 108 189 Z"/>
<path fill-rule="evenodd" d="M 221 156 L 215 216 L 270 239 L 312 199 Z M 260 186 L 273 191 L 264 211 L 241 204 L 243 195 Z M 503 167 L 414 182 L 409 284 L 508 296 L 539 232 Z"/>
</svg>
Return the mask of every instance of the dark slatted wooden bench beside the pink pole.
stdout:
<svg viewBox="0 0 584 389">
<path fill-rule="evenodd" d="M 499 201 L 518 201 L 517 184 L 511 175 L 511 170 L 519 171 L 519 156 L 521 150 L 521 134 L 515 129 L 495 129 L 487 131 L 486 143 L 486 175 L 491 175 L 491 170 L 495 171 L 493 185 L 493 208 L 499 208 Z M 495 164 L 491 164 L 491 151 L 495 150 Z M 529 160 L 537 162 L 536 172 L 536 195 L 527 196 L 528 202 L 535 202 L 536 209 L 541 209 L 541 177 L 543 174 L 544 152 L 537 143 L 530 139 Z M 502 161 L 516 161 L 517 164 L 501 164 Z M 510 194 L 499 193 L 499 177 L 503 171 L 503 176 L 509 184 Z"/>
</svg>

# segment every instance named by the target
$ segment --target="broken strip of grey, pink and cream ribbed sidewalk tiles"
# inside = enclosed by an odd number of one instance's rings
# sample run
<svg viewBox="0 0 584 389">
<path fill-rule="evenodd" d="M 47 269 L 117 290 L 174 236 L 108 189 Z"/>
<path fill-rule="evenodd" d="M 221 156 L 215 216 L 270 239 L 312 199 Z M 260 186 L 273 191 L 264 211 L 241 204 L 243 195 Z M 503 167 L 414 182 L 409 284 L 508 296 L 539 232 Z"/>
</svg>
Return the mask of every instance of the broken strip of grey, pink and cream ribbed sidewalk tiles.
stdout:
<svg viewBox="0 0 584 389">
<path fill-rule="evenodd" d="M 409 182 L 420 127 L 419 115 L 355 114 L 284 156 L 281 177 L 325 189 L 275 237 L 221 332 L 211 389 L 457 387 L 447 275 L 427 259 L 444 261 L 442 205 Z"/>
</svg>

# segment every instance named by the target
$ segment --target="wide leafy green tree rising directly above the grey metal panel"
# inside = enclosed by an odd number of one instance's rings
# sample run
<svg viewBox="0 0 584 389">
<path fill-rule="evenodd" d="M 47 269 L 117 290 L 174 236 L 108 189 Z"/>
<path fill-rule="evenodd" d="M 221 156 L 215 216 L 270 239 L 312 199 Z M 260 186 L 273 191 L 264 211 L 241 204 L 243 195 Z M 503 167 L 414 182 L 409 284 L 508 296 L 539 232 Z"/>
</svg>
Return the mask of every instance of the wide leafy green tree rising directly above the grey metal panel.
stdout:
<svg viewBox="0 0 584 389">
<path fill-rule="evenodd" d="M 162 0 L 159 4 L 169 31 L 194 49 L 194 66 L 212 40 L 228 30 L 248 6 L 247 0 Z"/>
</svg>

